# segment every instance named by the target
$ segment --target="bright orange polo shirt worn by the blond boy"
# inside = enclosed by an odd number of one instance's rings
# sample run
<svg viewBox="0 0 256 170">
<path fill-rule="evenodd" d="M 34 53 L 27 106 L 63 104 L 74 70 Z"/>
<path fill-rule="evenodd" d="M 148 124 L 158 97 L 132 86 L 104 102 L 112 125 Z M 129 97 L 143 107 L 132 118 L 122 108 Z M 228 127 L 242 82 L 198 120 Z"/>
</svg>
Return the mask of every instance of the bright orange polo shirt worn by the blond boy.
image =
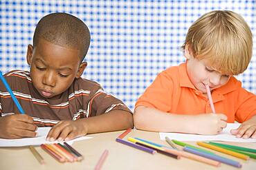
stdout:
<svg viewBox="0 0 256 170">
<path fill-rule="evenodd" d="M 256 115 L 256 96 L 230 77 L 226 85 L 212 90 L 216 113 L 226 114 L 228 123 L 243 123 Z M 158 74 L 152 85 L 138 98 L 135 107 L 152 107 L 172 114 L 212 113 L 210 102 L 197 90 L 187 74 L 186 63 L 170 67 Z"/>
</svg>

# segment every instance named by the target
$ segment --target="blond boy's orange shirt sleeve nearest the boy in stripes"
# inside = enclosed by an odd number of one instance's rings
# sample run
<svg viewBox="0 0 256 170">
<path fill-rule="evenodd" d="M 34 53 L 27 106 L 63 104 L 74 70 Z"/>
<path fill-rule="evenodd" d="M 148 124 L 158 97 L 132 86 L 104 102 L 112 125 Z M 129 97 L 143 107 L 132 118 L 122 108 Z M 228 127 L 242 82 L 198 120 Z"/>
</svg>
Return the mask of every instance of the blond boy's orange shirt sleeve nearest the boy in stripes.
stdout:
<svg viewBox="0 0 256 170">
<path fill-rule="evenodd" d="M 140 105 L 152 107 L 161 111 L 169 111 L 172 106 L 172 78 L 167 72 L 158 74 L 152 85 L 138 98 L 135 107 Z"/>
</svg>

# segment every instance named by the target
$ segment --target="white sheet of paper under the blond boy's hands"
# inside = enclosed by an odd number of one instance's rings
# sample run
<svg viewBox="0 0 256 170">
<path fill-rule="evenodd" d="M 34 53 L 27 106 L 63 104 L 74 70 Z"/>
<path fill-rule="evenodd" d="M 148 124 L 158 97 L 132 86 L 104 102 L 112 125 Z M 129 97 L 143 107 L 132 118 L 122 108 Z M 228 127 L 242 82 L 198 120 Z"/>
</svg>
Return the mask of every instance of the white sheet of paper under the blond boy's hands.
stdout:
<svg viewBox="0 0 256 170">
<path fill-rule="evenodd" d="M 228 141 L 228 142 L 256 142 L 256 139 L 248 138 L 237 138 L 236 136 L 230 134 L 231 129 L 237 129 L 241 125 L 240 123 L 228 123 L 227 127 L 221 131 L 220 134 L 217 135 L 196 135 L 196 134 L 181 134 L 181 133 L 163 133 L 160 132 L 161 140 L 165 140 L 165 136 L 168 138 L 181 140 L 181 141 L 203 141 L 203 140 L 220 140 L 220 141 Z"/>
</svg>

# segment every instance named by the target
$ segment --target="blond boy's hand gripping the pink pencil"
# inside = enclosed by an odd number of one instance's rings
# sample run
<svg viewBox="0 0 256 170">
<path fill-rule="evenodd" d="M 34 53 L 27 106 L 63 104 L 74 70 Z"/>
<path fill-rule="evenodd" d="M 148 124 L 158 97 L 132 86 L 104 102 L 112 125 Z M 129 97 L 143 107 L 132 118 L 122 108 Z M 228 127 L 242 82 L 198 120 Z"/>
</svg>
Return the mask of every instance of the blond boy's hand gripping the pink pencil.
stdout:
<svg viewBox="0 0 256 170">
<path fill-rule="evenodd" d="M 216 135 L 227 126 L 225 114 L 199 114 L 194 121 L 196 134 Z"/>
</svg>

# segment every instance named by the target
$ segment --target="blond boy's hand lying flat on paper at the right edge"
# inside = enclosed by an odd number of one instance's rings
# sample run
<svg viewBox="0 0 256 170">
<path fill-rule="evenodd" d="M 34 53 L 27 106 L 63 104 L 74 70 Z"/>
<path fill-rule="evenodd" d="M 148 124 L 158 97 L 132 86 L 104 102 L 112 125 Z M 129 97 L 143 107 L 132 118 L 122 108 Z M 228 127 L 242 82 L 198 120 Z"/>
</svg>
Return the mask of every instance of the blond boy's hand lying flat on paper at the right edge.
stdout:
<svg viewBox="0 0 256 170">
<path fill-rule="evenodd" d="M 237 129 L 232 129 L 230 133 L 237 138 L 256 138 L 256 116 L 242 123 Z"/>
</svg>

